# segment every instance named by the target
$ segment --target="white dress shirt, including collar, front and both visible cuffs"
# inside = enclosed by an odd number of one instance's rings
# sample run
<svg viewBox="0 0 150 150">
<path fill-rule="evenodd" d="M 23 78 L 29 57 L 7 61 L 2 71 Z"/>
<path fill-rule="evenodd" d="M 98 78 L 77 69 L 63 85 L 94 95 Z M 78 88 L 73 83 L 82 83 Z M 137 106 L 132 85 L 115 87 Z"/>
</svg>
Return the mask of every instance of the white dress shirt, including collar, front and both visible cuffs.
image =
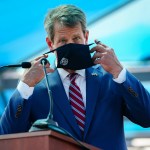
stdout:
<svg viewBox="0 0 150 150">
<path fill-rule="evenodd" d="M 65 71 L 62 68 L 58 68 L 58 73 L 60 75 L 60 78 L 62 80 L 65 92 L 69 98 L 69 85 L 70 85 L 70 79 L 68 76 L 69 72 Z M 85 69 L 82 70 L 76 70 L 76 73 L 79 74 L 79 76 L 77 77 L 77 79 L 75 80 L 76 84 L 80 87 L 81 90 L 81 94 L 83 97 L 83 102 L 84 105 L 86 107 L 86 78 L 85 78 Z M 114 82 L 117 82 L 119 84 L 123 83 L 126 80 L 126 69 L 123 68 L 123 70 L 120 72 L 118 78 L 113 79 Z M 33 94 L 33 90 L 34 87 L 29 87 L 27 84 L 25 84 L 24 82 L 20 81 L 17 89 L 20 93 L 20 95 L 22 96 L 22 98 L 24 99 L 28 99 L 32 94 Z"/>
</svg>

